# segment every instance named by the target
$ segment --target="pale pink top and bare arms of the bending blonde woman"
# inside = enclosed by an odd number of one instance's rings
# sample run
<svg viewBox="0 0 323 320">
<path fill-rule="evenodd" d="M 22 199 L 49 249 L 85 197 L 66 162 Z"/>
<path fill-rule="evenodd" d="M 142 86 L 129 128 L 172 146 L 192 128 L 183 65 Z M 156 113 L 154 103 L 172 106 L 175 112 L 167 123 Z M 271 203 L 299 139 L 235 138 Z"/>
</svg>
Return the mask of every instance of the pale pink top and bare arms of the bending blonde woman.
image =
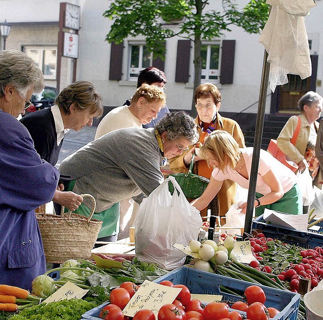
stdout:
<svg viewBox="0 0 323 320">
<path fill-rule="evenodd" d="M 242 152 L 244 162 L 247 167 L 248 177 L 250 177 L 253 148 L 241 148 L 239 150 Z M 289 191 L 295 185 L 297 181 L 296 175 L 289 168 L 275 159 L 270 153 L 265 150 L 260 150 L 256 192 L 263 195 L 271 192 L 271 188 L 263 181 L 262 178 L 262 176 L 264 176 L 270 169 L 273 170 L 278 180 L 282 183 L 284 193 Z M 227 168 L 225 171 L 220 171 L 218 168 L 214 168 L 212 171 L 212 177 L 218 181 L 229 179 L 237 182 L 245 189 L 249 188 L 249 180 L 245 179 L 231 168 Z"/>
</svg>

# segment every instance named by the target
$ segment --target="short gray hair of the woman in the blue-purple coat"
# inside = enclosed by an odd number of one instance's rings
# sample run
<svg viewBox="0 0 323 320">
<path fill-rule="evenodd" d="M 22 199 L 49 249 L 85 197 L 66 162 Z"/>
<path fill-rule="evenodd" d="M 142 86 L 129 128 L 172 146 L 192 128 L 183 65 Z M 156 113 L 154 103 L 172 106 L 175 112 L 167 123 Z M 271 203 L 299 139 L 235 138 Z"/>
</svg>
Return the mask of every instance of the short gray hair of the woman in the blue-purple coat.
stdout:
<svg viewBox="0 0 323 320">
<path fill-rule="evenodd" d="M 25 97 L 33 87 L 41 92 L 45 86 L 41 70 L 24 52 L 18 50 L 0 51 L 0 97 L 5 94 L 7 85 L 14 85 L 21 96 Z"/>
</svg>

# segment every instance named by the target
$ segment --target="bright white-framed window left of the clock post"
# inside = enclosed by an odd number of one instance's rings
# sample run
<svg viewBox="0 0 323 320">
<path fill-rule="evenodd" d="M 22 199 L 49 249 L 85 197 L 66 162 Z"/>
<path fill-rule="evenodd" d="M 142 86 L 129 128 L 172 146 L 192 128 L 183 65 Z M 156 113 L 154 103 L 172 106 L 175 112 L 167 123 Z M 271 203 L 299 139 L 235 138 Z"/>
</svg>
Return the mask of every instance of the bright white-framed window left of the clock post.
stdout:
<svg viewBox="0 0 323 320">
<path fill-rule="evenodd" d="M 32 58 L 44 74 L 44 79 L 56 79 L 57 48 L 25 46 L 24 52 Z"/>
</svg>

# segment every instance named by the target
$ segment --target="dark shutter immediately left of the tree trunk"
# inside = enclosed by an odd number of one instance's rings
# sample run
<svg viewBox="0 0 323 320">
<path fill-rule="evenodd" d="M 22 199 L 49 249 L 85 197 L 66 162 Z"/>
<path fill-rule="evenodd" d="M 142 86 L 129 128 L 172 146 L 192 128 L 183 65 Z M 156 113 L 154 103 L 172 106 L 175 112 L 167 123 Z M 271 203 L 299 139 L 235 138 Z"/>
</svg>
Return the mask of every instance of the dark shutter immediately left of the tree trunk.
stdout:
<svg viewBox="0 0 323 320">
<path fill-rule="evenodd" d="M 176 82 L 188 82 L 190 70 L 191 40 L 178 40 L 176 58 Z"/>
</svg>

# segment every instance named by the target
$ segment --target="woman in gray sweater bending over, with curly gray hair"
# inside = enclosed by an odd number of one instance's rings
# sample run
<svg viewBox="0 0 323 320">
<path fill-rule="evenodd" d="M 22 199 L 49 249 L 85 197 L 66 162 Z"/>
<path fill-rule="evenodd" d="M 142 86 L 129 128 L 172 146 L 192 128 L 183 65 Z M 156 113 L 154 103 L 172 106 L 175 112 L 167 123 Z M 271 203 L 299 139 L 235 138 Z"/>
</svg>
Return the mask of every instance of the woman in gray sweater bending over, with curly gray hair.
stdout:
<svg viewBox="0 0 323 320">
<path fill-rule="evenodd" d="M 182 154 L 197 141 L 196 125 L 185 113 L 166 115 L 155 129 L 119 129 L 88 143 L 61 164 L 62 174 L 75 179 L 73 191 L 96 199 L 94 218 L 102 220 L 98 240 L 115 241 L 119 231 L 119 201 L 148 196 L 164 177 L 163 158 Z M 76 212 L 85 215 L 86 202 Z"/>
</svg>

